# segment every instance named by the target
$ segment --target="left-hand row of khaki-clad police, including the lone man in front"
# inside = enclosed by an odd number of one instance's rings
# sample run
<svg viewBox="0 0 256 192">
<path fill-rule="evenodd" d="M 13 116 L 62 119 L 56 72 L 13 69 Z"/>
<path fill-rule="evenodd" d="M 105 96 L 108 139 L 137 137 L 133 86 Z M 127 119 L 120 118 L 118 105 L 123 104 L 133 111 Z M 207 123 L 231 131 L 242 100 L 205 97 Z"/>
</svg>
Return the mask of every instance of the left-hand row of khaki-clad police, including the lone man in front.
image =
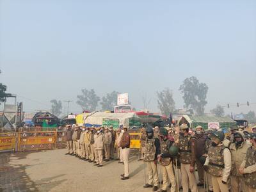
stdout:
<svg viewBox="0 0 256 192">
<path fill-rule="evenodd" d="M 75 156 L 97 167 L 102 167 L 103 161 L 115 159 L 116 151 L 117 159 L 115 160 L 124 164 L 124 174 L 121 174 L 121 179 L 129 179 L 131 138 L 127 127 L 120 127 L 116 131 L 113 127 L 67 125 L 66 128 L 68 150 L 66 155 Z"/>
</svg>

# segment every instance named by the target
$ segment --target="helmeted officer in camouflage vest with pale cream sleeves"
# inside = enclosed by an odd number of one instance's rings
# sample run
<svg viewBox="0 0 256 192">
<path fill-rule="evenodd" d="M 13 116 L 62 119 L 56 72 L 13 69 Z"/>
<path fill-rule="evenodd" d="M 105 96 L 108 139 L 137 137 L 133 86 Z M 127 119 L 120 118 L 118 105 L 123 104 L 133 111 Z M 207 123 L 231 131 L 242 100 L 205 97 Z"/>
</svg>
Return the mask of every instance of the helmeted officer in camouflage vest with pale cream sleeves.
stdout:
<svg viewBox="0 0 256 192">
<path fill-rule="evenodd" d="M 231 171 L 230 150 L 223 145 L 225 136 L 221 131 L 212 133 L 212 143 L 208 149 L 204 169 L 212 178 L 212 187 L 215 192 L 228 192 L 228 177 Z"/>
</svg>

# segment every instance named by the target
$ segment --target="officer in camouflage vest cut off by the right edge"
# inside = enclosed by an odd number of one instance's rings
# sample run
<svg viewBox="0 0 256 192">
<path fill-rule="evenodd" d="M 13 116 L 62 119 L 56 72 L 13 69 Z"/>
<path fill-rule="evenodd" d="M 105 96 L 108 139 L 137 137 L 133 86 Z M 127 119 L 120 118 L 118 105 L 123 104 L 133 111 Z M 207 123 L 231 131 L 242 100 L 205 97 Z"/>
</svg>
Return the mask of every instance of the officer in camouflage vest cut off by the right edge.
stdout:
<svg viewBox="0 0 256 192">
<path fill-rule="evenodd" d="M 245 189 L 243 191 L 256 191 L 256 133 L 250 133 L 250 142 L 252 146 L 248 148 L 246 157 L 239 168 L 239 172 L 243 174 Z"/>
</svg>

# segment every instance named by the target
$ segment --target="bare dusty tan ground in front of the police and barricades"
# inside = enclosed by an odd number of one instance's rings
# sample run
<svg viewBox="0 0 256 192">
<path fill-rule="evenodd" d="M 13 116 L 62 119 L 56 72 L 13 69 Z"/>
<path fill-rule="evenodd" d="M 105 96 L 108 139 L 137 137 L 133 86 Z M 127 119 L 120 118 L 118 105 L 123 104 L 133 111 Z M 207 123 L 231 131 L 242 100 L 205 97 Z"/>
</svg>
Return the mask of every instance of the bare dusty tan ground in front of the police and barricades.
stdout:
<svg viewBox="0 0 256 192">
<path fill-rule="evenodd" d="M 138 156 L 130 158 L 130 179 L 120 180 L 124 166 L 117 161 L 97 168 L 65 152 L 0 154 L 0 191 L 152 191 L 143 189 L 144 165 Z"/>
</svg>

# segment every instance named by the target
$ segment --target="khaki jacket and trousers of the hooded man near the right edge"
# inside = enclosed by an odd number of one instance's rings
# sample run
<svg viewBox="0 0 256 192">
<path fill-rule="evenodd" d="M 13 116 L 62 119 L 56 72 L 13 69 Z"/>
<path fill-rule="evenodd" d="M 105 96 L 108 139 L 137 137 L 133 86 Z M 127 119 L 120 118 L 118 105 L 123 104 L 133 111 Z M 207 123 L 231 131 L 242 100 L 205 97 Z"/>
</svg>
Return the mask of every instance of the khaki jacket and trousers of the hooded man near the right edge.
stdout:
<svg viewBox="0 0 256 192">
<path fill-rule="evenodd" d="M 230 152 L 231 152 L 231 159 L 232 159 L 232 167 L 231 167 L 231 191 L 232 192 L 243 191 L 243 189 L 245 188 L 244 182 L 243 182 L 243 175 L 239 173 L 239 167 L 242 164 L 244 157 L 246 156 L 247 149 L 250 147 L 244 139 L 244 133 L 241 131 L 237 131 L 236 134 L 238 133 L 241 135 L 244 141 L 241 144 L 241 146 L 238 148 L 236 147 L 236 143 L 232 143 L 230 145 Z"/>
</svg>

